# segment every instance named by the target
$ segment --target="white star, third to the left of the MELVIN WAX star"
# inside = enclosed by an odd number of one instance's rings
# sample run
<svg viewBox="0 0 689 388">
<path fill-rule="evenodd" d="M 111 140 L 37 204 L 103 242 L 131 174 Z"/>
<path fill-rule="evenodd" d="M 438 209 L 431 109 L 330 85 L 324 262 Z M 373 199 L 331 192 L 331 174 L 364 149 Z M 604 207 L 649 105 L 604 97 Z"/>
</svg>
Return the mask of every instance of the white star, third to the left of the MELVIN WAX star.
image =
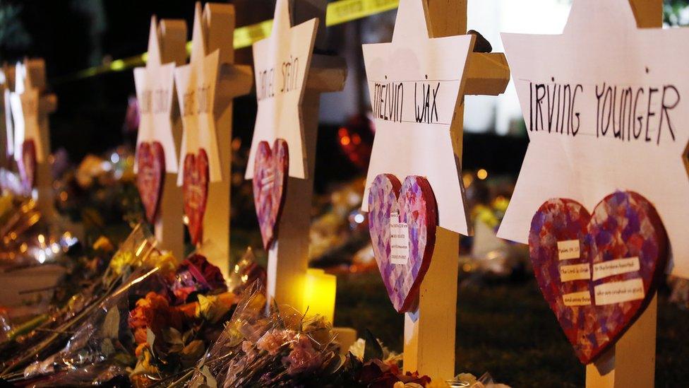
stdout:
<svg viewBox="0 0 689 388">
<path fill-rule="evenodd" d="M 184 34 L 186 35 L 186 34 Z M 141 114 L 136 149 L 142 142 L 158 141 L 165 153 L 165 170 L 177 172 L 177 149 L 173 134 L 173 93 L 174 93 L 174 60 L 165 58 L 163 64 L 160 35 L 155 16 L 151 17 L 150 35 L 148 36 L 148 61 L 145 67 L 134 69 L 136 98 L 139 101 Z M 181 42 L 168 39 L 168 44 Z"/>
</svg>

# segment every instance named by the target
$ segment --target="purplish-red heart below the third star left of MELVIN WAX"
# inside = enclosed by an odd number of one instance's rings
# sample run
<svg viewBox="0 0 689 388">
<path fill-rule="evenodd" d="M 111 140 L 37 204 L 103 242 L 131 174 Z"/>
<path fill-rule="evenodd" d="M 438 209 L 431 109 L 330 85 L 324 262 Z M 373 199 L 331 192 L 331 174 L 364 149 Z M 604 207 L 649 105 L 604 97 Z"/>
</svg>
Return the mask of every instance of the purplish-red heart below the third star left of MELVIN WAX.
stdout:
<svg viewBox="0 0 689 388">
<path fill-rule="evenodd" d="M 142 142 L 136 153 L 136 164 L 136 187 L 141 196 L 146 219 L 149 223 L 154 223 L 165 182 L 165 151 L 160 142 Z"/>
</svg>

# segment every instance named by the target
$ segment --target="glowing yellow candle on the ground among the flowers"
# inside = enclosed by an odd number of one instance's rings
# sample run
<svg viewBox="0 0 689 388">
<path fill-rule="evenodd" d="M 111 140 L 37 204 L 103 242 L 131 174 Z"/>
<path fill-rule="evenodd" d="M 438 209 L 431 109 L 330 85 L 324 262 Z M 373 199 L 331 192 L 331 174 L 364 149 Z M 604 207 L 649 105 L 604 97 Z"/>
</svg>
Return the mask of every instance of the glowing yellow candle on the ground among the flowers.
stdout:
<svg viewBox="0 0 689 388">
<path fill-rule="evenodd" d="M 304 281 L 304 305 L 303 311 L 308 315 L 320 314 L 332 322 L 335 316 L 335 290 L 337 277 L 325 274 L 322 269 L 307 269 Z"/>
</svg>

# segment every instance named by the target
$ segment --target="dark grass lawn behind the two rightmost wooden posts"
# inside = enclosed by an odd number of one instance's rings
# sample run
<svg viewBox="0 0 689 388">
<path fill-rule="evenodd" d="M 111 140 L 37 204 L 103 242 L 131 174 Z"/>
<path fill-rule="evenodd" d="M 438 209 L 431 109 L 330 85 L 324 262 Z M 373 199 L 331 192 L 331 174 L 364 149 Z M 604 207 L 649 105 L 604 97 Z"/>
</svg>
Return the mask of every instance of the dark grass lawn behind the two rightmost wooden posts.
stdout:
<svg viewBox="0 0 689 388">
<path fill-rule="evenodd" d="M 689 312 L 659 298 L 656 387 L 689 384 Z M 335 325 L 373 331 L 402 351 L 404 323 L 378 273 L 337 279 Z M 585 368 L 565 339 L 533 278 L 472 283 L 457 297 L 457 372 L 490 372 L 512 387 L 582 387 Z"/>
</svg>

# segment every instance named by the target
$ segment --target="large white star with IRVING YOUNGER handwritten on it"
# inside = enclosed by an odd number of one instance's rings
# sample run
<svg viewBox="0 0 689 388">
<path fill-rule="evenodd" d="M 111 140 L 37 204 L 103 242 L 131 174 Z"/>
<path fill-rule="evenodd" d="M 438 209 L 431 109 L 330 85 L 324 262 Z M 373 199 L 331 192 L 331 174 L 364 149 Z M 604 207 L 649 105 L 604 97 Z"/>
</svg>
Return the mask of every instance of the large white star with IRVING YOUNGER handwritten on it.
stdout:
<svg viewBox="0 0 689 388">
<path fill-rule="evenodd" d="M 575 0 L 562 35 L 503 34 L 530 143 L 499 237 L 527 242 L 548 199 L 592 211 L 631 190 L 660 214 L 673 274 L 689 277 L 688 41 L 685 28 L 638 29 L 627 0 Z"/>
</svg>

